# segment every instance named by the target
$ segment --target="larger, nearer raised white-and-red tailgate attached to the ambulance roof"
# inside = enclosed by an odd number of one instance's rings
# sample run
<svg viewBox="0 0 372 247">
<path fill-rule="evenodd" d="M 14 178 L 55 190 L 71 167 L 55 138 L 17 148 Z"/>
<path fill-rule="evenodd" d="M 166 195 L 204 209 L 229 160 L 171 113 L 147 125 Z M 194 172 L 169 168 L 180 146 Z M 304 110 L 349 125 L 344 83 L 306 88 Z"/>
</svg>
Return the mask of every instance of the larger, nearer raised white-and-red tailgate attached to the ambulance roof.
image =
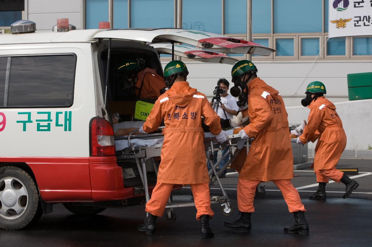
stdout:
<svg viewBox="0 0 372 247">
<path fill-rule="evenodd" d="M 144 43 L 186 43 L 221 53 L 254 54 L 269 56 L 274 49 L 242 39 L 215 33 L 164 28 L 164 29 L 114 29 L 96 33 L 94 39 L 122 39 Z"/>
</svg>

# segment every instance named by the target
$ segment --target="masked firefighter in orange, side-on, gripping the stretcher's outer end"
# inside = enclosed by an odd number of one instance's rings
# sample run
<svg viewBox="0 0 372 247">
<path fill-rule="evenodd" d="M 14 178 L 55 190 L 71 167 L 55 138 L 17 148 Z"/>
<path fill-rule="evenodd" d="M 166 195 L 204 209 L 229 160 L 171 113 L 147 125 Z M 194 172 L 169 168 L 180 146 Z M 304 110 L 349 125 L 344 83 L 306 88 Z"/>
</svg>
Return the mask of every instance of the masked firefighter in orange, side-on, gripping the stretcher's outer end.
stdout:
<svg viewBox="0 0 372 247">
<path fill-rule="evenodd" d="M 235 86 L 246 87 L 248 92 L 249 124 L 239 133 L 243 135 L 242 139 L 254 139 L 238 178 L 241 217 L 234 222 L 225 222 L 225 226 L 249 232 L 256 187 L 262 181 L 273 181 L 282 192 L 289 212 L 295 216 L 295 224 L 285 227 L 284 232 L 308 234 L 306 210 L 291 182 L 293 156 L 285 105 L 278 91 L 257 77 L 256 72 L 256 66 L 248 60 L 237 62 L 231 70 Z"/>
</svg>

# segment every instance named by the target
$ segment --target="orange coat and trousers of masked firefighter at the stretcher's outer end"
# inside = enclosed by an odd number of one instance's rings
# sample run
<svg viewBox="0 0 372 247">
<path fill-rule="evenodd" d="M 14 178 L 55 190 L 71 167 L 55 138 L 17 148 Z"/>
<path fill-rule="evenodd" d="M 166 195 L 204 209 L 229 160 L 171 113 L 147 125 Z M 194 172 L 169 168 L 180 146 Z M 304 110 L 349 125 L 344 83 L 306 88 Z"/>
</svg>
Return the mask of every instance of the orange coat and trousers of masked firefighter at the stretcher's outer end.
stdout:
<svg viewBox="0 0 372 247">
<path fill-rule="evenodd" d="M 279 92 L 259 77 L 248 82 L 249 125 L 246 134 L 254 140 L 240 171 L 238 209 L 254 212 L 253 199 L 261 181 L 273 181 L 282 192 L 290 213 L 306 211 L 293 178 L 293 155 L 288 138 L 288 114 Z"/>
</svg>

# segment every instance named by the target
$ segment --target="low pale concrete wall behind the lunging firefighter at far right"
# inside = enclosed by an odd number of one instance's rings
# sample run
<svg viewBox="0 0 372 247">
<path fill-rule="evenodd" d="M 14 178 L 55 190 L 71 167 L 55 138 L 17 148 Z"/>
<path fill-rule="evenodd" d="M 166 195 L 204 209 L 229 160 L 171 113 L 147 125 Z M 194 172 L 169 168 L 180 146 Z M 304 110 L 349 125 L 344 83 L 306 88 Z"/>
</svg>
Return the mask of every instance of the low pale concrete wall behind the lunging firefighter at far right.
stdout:
<svg viewBox="0 0 372 247">
<path fill-rule="evenodd" d="M 372 159 L 371 119 L 372 99 L 334 103 L 347 137 L 345 151 L 341 158 Z M 289 125 L 307 119 L 310 109 L 303 106 L 287 107 Z M 314 157 L 315 143 L 308 143 L 308 156 Z"/>
</svg>

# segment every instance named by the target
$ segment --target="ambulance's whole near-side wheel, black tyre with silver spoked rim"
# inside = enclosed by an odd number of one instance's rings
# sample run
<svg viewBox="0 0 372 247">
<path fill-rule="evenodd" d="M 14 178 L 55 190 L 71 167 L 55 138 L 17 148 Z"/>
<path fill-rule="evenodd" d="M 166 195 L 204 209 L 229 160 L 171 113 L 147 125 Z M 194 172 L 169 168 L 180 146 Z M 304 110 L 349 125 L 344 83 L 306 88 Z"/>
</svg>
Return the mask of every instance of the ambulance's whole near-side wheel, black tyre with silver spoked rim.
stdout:
<svg viewBox="0 0 372 247">
<path fill-rule="evenodd" d="M 43 214 L 35 181 L 22 168 L 0 167 L 0 228 L 18 230 Z"/>
</svg>

